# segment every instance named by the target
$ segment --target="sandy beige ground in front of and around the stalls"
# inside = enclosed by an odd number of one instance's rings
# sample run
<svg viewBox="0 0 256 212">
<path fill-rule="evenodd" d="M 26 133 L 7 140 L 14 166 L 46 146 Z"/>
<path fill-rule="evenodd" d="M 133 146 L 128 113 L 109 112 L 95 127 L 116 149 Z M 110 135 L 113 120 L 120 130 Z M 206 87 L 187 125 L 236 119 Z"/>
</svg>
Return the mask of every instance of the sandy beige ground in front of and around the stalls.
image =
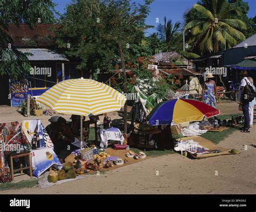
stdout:
<svg viewBox="0 0 256 212">
<path fill-rule="evenodd" d="M 218 104 L 221 114 L 238 113 L 237 108 L 235 103 Z M 0 108 L 0 122 L 20 118 L 15 110 L 1 114 Z M 218 144 L 241 151 L 239 155 L 191 160 L 171 154 L 46 189 L 24 188 L 1 194 L 255 194 L 256 149 L 250 146 L 256 144 L 255 138 L 256 126 L 251 133 L 235 131 Z"/>
</svg>

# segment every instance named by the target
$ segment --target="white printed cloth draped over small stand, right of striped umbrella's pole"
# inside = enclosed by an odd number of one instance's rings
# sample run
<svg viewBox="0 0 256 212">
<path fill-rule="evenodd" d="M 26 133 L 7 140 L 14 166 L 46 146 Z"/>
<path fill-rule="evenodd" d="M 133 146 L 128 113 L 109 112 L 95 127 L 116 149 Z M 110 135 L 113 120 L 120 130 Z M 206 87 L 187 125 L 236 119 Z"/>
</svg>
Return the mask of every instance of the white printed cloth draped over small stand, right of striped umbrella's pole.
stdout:
<svg viewBox="0 0 256 212">
<path fill-rule="evenodd" d="M 109 128 L 107 130 L 104 130 L 102 125 L 100 126 L 99 133 L 101 138 L 101 148 L 107 147 L 108 140 L 118 140 L 120 144 L 123 144 L 124 142 L 124 137 L 118 128 Z"/>
</svg>

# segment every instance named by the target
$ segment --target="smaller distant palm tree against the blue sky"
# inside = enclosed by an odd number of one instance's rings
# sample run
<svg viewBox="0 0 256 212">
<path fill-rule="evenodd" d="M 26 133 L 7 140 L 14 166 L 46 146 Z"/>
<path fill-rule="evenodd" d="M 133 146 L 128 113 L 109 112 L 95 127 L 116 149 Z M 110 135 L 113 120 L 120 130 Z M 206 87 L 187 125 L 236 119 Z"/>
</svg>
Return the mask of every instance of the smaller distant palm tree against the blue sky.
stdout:
<svg viewBox="0 0 256 212">
<path fill-rule="evenodd" d="M 160 40 L 165 41 L 165 51 L 176 50 L 177 44 L 180 43 L 178 42 L 180 40 L 179 27 L 179 22 L 176 22 L 173 25 L 172 20 L 167 20 L 166 17 L 164 17 L 164 25 L 159 24 L 157 26 Z"/>
</svg>

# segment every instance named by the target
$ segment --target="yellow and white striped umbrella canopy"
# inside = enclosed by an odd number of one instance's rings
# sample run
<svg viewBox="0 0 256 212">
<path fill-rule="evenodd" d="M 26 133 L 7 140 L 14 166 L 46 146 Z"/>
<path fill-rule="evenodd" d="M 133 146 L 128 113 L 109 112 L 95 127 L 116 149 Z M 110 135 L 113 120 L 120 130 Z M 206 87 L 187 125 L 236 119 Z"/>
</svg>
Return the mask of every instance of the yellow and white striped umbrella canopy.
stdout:
<svg viewBox="0 0 256 212">
<path fill-rule="evenodd" d="M 60 114 L 89 116 L 118 111 L 124 106 L 126 98 L 104 83 L 82 77 L 56 84 L 37 101 Z"/>
</svg>

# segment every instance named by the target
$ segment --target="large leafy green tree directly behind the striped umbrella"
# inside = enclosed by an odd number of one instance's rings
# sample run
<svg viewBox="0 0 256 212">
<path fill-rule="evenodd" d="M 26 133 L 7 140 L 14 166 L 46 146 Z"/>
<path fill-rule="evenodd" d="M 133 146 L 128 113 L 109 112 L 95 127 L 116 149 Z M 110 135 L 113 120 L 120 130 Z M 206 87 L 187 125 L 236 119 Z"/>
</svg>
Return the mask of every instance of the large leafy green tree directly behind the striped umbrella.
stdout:
<svg viewBox="0 0 256 212">
<path fill-rule="evenodd" d="M 130 0 L 72 1 L 56 30 L 57 47 L 77 59 L 77 68 L 87 70 L 90 78 L 96 69 L 112 69 L 120 58 L 117 42 L 122 42 L 125 59 L 130 59 L 131 47 L 140 45 L 144 30 L 149 27 L 145 18 L 152 0 L 144 2 L 142 5 Z"/>
</svg>

